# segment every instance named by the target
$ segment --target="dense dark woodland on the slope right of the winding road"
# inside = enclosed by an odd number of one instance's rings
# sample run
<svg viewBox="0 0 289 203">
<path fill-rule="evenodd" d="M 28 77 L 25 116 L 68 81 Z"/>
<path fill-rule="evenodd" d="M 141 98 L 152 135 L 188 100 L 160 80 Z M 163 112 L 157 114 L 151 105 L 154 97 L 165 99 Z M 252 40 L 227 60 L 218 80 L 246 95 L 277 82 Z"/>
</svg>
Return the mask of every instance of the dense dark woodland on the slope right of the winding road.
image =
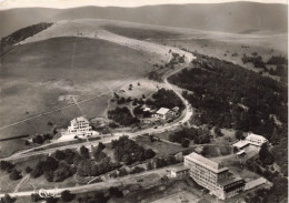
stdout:
<svg viewBox="0 0 289 203">
<path fill-rule="evenodd" d="M 197 124 L 266 136 L 273 144 L 275 161 L 287 175 L 287 84 L 228 61 L 193 54 L 197 57 L 193 68 L 170 77 L 169 81 L 190 91 L 182 94 L 199 112 L 195 114 Z M 271 60 L 279 63 L 275 58 Z"/>
</svg>

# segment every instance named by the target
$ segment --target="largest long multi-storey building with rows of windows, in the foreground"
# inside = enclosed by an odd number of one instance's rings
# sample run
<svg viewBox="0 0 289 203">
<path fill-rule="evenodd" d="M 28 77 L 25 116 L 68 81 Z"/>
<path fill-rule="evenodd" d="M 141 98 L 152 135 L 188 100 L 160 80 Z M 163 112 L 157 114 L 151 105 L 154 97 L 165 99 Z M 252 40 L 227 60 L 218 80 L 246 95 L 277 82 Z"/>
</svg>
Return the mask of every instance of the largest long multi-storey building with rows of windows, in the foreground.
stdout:
<svg viewBox="0 0 289 203">
<path fill-rule="evenodd" d="M 185 166 L 190 168 L 189 175 L 199 185 L 208 189 L 210 194 L 220 200 L 235 196 L 243 191 L 245 181 L 241 177 L 232 176 L 228 168 L 198 153 L 186 155 Z"/>
</svg>

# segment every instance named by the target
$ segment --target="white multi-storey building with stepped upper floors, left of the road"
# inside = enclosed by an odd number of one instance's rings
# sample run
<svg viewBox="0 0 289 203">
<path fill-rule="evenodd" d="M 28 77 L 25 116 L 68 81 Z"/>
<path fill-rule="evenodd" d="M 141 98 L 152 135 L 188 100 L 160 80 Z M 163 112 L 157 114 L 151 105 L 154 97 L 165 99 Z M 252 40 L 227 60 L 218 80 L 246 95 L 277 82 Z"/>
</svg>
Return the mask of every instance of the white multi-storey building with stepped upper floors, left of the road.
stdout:
<svg viewBox="0 0 289 203">
<path fill-rule="evenodd" d="M 87 138 L 91 135 L 98 135 L 97 131 L 93 131 L 89 124 L 89 121 L 84 116 L 79 116 L 70 121 L 68 131 L 62 134 L 59 140 L 70 140 L 74 138 Z"/>
</svg>

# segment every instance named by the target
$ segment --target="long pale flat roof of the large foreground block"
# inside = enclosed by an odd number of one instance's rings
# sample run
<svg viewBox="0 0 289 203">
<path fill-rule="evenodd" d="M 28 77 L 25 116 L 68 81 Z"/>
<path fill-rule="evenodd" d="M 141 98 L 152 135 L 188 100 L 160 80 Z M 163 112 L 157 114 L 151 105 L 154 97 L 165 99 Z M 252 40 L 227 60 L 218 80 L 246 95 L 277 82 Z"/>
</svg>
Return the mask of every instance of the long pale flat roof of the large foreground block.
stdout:
<svg viewBox="0 0 289 203">
<path fill-rule="evenodd" d="M 206 169 L 209 169 L 211 171 L 213 171 L 215 173 L 220 173 L 223 171 L 228 171 L 228 168 L 222 166 L 220 163 L 211 161 L 207 158 L 203 158 L 202 155 L 192 152 L 189 155 L 186 155 L 185 159 L 191 160 L 192 162 L 196 162 L 200 165 L 202 165 Z"/>
</svg>

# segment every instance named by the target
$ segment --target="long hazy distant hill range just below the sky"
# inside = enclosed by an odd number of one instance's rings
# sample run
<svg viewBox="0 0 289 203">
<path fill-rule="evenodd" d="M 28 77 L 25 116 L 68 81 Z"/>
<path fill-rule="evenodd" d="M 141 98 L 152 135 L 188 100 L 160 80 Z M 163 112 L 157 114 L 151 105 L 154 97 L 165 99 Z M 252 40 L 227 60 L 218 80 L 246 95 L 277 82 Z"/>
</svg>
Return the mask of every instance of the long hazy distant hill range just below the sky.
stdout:
<svg viewBox="0 0 289 203">
<path fill-rule="evenodd" d="M 139 8 L 82 7 L 73 9 L 24 8 L 0 11 L 0 38 L 39 22 L 70 19 L 110 19 L 233 33 L 287 32 L 286 4 L 228 2 L 167 4 Z"/>
</svg>

